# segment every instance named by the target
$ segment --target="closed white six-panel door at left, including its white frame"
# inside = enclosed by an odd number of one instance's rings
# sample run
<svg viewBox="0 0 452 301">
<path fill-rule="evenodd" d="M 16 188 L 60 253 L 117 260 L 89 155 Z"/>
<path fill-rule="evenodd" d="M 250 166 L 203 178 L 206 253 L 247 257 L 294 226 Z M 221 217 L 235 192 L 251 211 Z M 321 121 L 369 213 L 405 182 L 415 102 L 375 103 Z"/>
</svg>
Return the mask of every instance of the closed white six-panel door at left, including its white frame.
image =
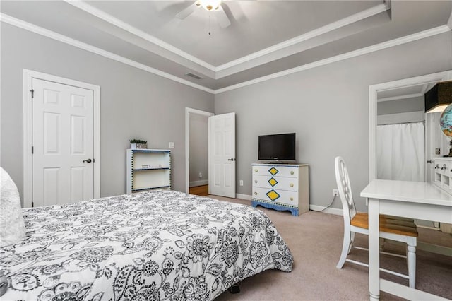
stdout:
<svg viewBox="0 0 452 301">
<path fill-rule="evenodd" d="M 100 87 L 23 71 L 23 206 L 100 197 Z"/>
</svg>

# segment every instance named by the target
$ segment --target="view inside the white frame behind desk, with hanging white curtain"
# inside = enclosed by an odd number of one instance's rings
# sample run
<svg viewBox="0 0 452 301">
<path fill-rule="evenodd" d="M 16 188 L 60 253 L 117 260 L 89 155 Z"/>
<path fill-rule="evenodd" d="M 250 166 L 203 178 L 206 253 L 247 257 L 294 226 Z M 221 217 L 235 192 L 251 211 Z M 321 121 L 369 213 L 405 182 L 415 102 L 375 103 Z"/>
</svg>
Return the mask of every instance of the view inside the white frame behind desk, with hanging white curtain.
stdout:
<svg viewBox="0 0 452 301">
<path fill-rule="evenodd" d="M 376 179 L 427 179 L 424 93 L 434 84 L 377 91 Z"/>
</svg>

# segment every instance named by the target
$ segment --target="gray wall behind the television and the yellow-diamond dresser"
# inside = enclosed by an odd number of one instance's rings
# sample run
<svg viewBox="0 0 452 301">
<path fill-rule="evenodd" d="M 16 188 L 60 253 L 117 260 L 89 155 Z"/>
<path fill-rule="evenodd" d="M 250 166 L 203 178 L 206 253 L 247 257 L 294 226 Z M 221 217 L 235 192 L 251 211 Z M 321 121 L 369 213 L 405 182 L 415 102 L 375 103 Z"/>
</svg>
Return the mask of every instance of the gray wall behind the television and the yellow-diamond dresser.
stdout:
<svg viewBox="0 0 452 301">
<path fill-rule="evenodd" d="M 297 161 L 310 165 L 310 203 L 331 202 L 341 155 L 357 207 L 367 210 L 359 192 L 369 182 L 369 85 L 452 69 L 451 48 L 448 32 L 215 95 L 215 114 L 237 113 L 237 193 L 251 194 L 257 136 L 295 131 Z"/>
</svg>

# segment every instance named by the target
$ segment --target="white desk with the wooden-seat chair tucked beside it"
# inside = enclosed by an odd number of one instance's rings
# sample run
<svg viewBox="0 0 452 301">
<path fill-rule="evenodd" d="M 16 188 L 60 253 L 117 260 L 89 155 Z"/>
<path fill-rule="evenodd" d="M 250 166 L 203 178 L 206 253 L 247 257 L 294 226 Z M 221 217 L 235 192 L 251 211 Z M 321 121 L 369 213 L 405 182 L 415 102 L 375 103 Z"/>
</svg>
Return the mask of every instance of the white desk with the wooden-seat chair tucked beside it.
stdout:
<svg viewBox="0 0 452 301">
<path fill-rule="evenodd" d="M 375 179 L 361 192 L 369 202 L 369 294 L 379 300 L 380 290 L 409 300 L 441 297 L 380 279 L 379 214 L 452 223 L 452 196 L 426 182 Z"/>
</svg>

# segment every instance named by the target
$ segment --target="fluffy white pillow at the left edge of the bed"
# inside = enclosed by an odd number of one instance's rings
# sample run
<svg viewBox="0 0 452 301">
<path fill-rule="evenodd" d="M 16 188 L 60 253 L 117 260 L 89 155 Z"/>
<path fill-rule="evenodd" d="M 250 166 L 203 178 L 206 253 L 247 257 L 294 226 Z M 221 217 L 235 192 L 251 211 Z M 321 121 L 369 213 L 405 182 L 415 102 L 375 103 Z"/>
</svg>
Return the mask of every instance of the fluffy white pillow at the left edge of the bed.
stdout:
<svg viewBox="0 0 452 301">
<path fill-rule="evenodd" d="M 0 247 L 4 247 L 25 239 L 25 223 L 16 184 L 1 167 L 0 172 Z"/>
</svg>

